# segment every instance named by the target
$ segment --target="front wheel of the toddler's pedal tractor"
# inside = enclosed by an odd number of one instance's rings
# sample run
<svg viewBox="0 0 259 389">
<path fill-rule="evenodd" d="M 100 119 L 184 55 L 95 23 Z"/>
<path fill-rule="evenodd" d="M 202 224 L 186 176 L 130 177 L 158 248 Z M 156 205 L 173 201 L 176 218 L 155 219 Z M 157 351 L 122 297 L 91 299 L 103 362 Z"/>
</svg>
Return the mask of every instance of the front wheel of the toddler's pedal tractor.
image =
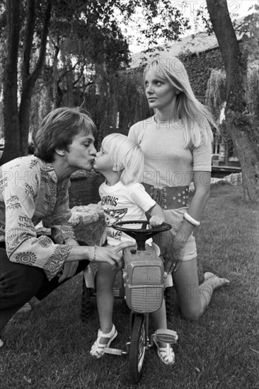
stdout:
<svg viewBox="0 0 259 389">
<path fill-rule="evenodd" d="M 129 346 L 129 375 L 134 383 L 138 383 L 144 364 L 145 347 L 144 315 L 135 315 Z"/>
</svg>

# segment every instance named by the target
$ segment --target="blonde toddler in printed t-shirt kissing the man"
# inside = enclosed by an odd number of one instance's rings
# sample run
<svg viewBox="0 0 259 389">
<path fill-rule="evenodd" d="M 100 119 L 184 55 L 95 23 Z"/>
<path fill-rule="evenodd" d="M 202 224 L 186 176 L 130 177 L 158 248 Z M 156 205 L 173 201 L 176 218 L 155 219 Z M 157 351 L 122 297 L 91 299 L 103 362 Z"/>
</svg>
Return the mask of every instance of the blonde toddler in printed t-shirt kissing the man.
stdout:
<svg viewBox="0 0 259 389">
<path fill-rule="evenodd" d="M 96 153 L 93 168 L 105 177 L 100 185 L 99 194 L 105 213 L 105 233 L 102 243 L 118 245 L 134 241 L 122 231 L 112 227 L 116 221 L 146 220 L 145 212 L 151 217 L 151 226 L 159 226 L 165 217 L 163 210 L 151 199 L 139 182 L 143 178 L 144 156 L 140 147 L 122 134 L 110 134 L 103 139 L 101 149 Z M 91 355 L 100 358 L 104 349 L 110 346 L 117 330 L 113 324 L 113 283 L 116 272 L 105 262 L 98 264 L 96 274 L 97 306 L 100 320 L 98 337 L 91 347 Z M 165 303 L 152 313 L 156 329 L 166 329 Z M 156 342 L 158 356 L 164 364 L 174 363 L 173 349 L 168 343 Z"/>
</svg>

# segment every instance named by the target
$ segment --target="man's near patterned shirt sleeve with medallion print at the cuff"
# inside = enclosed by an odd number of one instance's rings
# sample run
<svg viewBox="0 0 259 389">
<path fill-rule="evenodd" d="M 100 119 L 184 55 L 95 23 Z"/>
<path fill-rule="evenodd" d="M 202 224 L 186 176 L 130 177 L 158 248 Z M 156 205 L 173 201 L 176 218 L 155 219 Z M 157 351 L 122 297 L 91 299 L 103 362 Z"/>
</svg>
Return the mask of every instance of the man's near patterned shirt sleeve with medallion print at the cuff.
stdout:
<svg viewBox="0 0 259 389">
<path fill-rule="evenodd" d="M 6 175 L 3 179 L 3 174 Z M 11 262 L 40 267 L 52 279 L 67 259 L 71 247 L 54 244 L 47 236 L 37 238 L 33 215 L 40 187 L 37 165 L 17 163 L 2 172 L 1 191 L 6 207 L 6 253 Z"/>
</svg>

